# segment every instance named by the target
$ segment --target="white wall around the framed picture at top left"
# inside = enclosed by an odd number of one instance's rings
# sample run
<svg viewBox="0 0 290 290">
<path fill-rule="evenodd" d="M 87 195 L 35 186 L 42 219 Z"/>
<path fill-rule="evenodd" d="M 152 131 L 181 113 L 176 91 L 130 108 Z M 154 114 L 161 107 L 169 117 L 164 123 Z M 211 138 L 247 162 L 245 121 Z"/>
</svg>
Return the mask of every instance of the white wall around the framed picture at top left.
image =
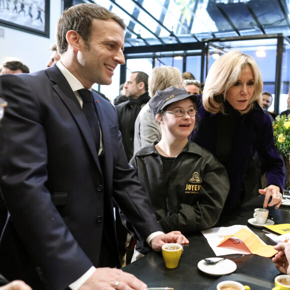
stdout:
<svg viewBox="0 0 290 290">
<path fill-rule="evenodd" d="M 49 38 L 1 26 L 4 37 L 0 37 L 0 64 L 6 57 L 17 57 L 26 64 L 30 72 L 46 67 L 52 43 L 55 43 L 55 25 L 61 15 L 61 0 L 50 0 Z"/>
</svg>

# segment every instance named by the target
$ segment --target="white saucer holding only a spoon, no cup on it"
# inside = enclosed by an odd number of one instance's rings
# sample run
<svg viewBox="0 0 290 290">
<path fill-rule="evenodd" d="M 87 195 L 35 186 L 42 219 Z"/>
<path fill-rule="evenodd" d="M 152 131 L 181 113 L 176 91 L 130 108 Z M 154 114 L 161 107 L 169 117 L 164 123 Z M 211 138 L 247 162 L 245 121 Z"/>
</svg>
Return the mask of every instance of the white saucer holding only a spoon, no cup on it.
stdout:
<svg viewBox="0 0 290 290">
<path fill-rule="evenodd" d="M 211 260 L 219 260 L 220 257 L 208 258 Z M 205 260 L 198 262 L 197 267 L 200 271 L 213 276 L 221 276 L 232 273 L 236 269 L 236 264 L 232 260 L 224 259 L 217 264 L 208 264 Z"/>
</svg>

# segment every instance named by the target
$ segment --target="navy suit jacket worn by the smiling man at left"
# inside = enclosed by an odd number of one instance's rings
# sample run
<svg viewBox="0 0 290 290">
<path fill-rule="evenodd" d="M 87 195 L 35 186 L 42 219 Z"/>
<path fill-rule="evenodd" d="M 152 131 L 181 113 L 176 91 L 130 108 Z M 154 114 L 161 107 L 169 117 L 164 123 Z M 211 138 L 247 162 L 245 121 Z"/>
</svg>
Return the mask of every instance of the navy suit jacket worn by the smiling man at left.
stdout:
<svg viewBox="0 0 290 290">
<path fill-rule="evenodd" d="M 100 166 L 81 106 L 56 65 L 0 79 L 8 102 L 1 129 L 0 186 L 10 214 L 0 240 L 4 276 L 33 289 L 64 289 L 98 265 L 104 223 L 118 265 L 113 199 L 141 241 L 161 230 L 127 163 L 112 104 L 93 92 Z"/>
</svg>

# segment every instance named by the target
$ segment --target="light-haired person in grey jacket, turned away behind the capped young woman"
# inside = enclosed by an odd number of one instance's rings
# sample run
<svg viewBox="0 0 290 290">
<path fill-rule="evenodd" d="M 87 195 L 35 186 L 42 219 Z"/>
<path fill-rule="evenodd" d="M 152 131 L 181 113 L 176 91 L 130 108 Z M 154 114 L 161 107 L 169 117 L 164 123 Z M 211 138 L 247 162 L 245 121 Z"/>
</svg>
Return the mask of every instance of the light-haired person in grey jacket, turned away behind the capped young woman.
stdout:
<svg viewBox="0 0 290 290">
<path fill-rule="evenodd" d="M 149 95 L 152 97 L 156 90 L 169 86 L 181 87 L 181 72 L 172 66 L 154 67 L 148 78 Z M 160 140 L 160 133 L 155 120 L 151 117 L 148 103 L 140 110 L 134 128 L 134 153 L 153 141 Z"/>
</svg>

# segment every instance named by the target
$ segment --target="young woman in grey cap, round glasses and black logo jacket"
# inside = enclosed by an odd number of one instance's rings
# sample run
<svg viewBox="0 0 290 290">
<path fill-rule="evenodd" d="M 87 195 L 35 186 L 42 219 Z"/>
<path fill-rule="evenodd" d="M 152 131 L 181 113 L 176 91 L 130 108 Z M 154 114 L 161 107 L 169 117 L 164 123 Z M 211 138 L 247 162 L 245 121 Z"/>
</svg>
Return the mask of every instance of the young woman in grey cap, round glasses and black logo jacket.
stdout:
<svg viewBox="0 0 290 290">
<path fill-rule="evenodd" d="M 196 99 L 184 88 L 157 90 L 148 103 L 162 137 L 130 160 L 164 232 L 185 234 L 213 226 L 229 189 L 225 168 L 187 139 L 195 126 Z M 137 241 L 133 260 L 148 250 Z"/>
</svg>

